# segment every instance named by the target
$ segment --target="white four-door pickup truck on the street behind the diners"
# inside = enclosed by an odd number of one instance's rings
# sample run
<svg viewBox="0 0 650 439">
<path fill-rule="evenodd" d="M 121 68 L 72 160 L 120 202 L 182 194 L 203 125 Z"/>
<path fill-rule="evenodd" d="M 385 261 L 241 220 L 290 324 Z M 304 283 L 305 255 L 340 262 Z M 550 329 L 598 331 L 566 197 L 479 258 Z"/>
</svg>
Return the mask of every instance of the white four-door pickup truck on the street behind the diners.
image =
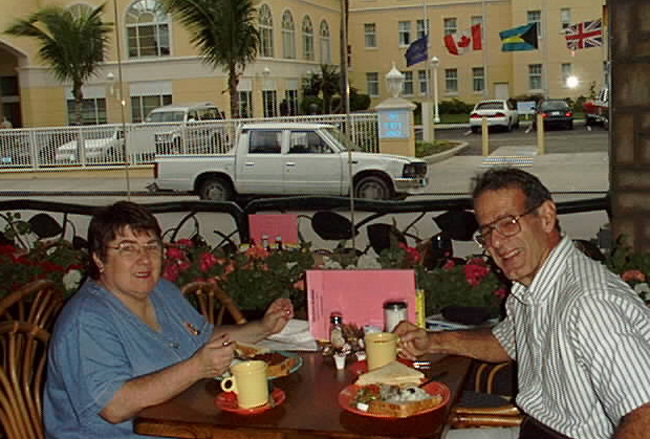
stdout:
<svg viewBox="0 0 650 439">
<path fill-rule="evenodd" d="M 352 152 L 348 154 L 348 149 Z M 423 160 L 354 151 L 336 127 L 306 123 L 243 125 L 224 155 L 156 155 L 153 190 L 192 191 L 204 200 L 236 195 L 402 199 L 427 185 Z"/>
</svg>

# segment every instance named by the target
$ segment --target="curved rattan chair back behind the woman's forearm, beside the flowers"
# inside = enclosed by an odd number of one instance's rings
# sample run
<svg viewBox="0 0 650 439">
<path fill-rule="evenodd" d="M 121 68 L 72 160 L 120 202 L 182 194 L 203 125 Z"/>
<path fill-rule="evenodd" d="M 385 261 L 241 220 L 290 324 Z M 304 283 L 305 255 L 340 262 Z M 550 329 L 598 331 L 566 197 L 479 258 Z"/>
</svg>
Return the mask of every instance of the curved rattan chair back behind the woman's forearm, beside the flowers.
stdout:
<svg viewBox="0 0 650 439">
<path fill-rule="evenodd" d="M 181 292 L 195 302 L 201 314 L 212 324 L 221 325 L 225 311 L 228 310 L 236 324 L 246 323 L 235 302 L 217 284 L 208 282 L 191 282 L 183 285 Z M 219 306 L 217 307 L 217 303 Z"/>
</svg>

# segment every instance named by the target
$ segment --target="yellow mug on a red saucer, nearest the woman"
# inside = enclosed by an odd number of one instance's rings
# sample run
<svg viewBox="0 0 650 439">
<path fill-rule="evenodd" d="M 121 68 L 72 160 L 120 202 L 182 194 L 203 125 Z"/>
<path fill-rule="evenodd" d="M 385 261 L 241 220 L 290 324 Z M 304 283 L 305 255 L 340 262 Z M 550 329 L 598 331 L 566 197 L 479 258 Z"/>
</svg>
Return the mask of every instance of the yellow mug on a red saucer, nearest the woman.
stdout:
<svg viewBox="0 0 650 439">
<path fill-rule="evenodd" d="M 264 405 L 269 400 L 264 361 L 245 361 L 230 368 L 232 376 L 221 380 L 221 389 L 237 394 L 239 407 L 249 409 Z"/>
</svg>

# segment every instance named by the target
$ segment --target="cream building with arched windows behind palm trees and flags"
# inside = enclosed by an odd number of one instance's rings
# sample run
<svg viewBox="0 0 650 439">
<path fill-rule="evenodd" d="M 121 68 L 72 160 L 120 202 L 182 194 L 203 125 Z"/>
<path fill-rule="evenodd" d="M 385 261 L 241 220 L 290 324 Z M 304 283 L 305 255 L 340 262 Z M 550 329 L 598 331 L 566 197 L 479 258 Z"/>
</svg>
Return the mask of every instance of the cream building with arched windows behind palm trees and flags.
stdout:
<svg viewBox="0 0 650 439">
<path fill-rule="evenodd" d="M 600 3 L 603 0 L 597 0 Z M 100 0 L 4 0 L 11 14 L 0 16 L 0 29 L 15 17 L 61 4 L 94 7 Z M 563 26 L 600 18 L 594 0 L 351 0 L 348 38 L 351 46 L 350 84 L 372 96 L 375 105 L 387 97 L 385 80 L 391 62 L 406 74 L 407 99 L 427 98 L 432 83 L 430 63 L 406 68 L 408 43 L 430 26 L 429 58 L 437 56 L 439 100 L 474 102 L 486 97 L 516 97 L 539 93 L 549 97 L 589 94 L 600 87 L 606 48 L 572 53 Z M 255 2 L 264 44 L 256 62 L 247 66 L 239 85 L 243 116 L 279 115 L 287 100 L 295 111 L 302 99 L 303 80 L 321 63 L 339 64 L 341 2 L 339 0 L 262 0 Z M 117 11 L 117 14 L 114 11 Z M 121 121 L 124 96 L 127 122 L 139 122 L 151 109 L 166 103 L 211 101 L 229 113 L 227 77 L 203 64 L 187 31 L 160 13 L 156 0 L 109 0 L 105 21 L 117 23 L 106 62 L 84 86 L 86 123 Z M 540 47 L 529 52 L 501 52 L 498 32 L 529 21 L 541 22 Z M 483 23 L 483 50 L 462 56 L 447 53 L 443 36 Z M 120 90 L 119 36 L 122 65 Z M 575 89 L 565 85 L 575 75 Z M 485 88 L 485 91 L 483 91 Z M 0 34 L 0 102 L 14 127 L 68 125 L 73 104 L 69 84 L 59 83 L 37 56 L 29 38 Z"/>
</svg>

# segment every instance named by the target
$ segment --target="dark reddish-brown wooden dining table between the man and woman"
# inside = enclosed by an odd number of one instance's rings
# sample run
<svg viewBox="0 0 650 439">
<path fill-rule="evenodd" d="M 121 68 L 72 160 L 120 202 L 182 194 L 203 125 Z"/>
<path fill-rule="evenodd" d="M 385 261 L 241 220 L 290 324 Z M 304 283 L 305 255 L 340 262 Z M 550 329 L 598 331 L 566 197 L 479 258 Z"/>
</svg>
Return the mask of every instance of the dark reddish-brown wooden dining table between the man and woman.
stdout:
<svg viewBox="0 0 650 439">
<path fill-rule="evenodd" d="M 134 419 L 134 431 L 145 436 L 192 439 L 438 439 L 471 368 L 471 359 L 466 357 L 425 357 L 429 368 L 422 372 L 449 388 L 449 401 L 433 411 L 406 418 L 378 418 L 355 413 L 339 403 L 339 394 L 354 383 L 365 362 L 348 357 L 345 367 L 337 369 L 333 358 L 320 352 L 297 355 L 302 359 L 300 367 L 272 380 L 285 398 L 268 410 L 256 414 L 220 410 L 216 404 L 220 382 L 203 379 L 171 400 L 142 410 Z"/>
</svg>

